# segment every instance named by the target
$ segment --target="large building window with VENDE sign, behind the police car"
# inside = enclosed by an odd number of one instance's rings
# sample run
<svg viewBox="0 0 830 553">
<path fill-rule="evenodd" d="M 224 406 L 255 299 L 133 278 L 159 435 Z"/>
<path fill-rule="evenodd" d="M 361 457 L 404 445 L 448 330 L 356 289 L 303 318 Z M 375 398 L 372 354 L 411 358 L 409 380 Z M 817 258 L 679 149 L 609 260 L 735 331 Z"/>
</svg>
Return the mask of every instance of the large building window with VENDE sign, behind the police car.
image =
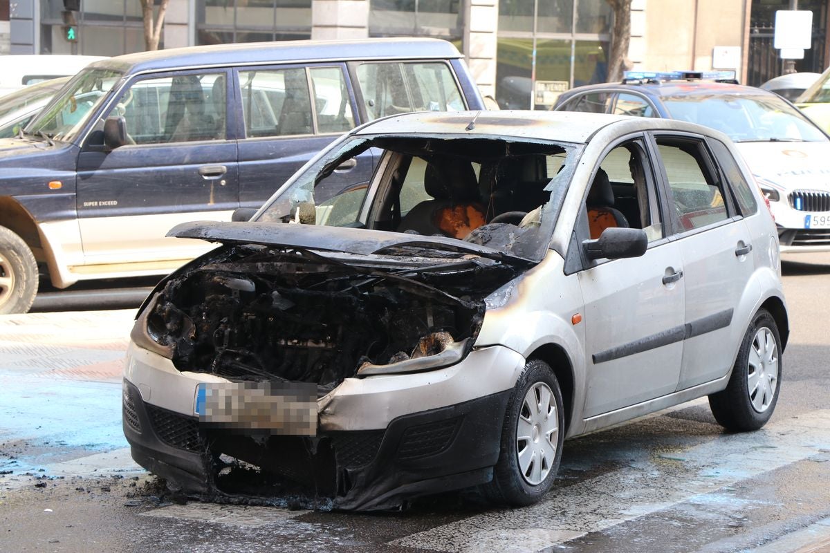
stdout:
<svg viewBox="0 0 830 553">
<path fill-rule="evenodd" d="M 611 17 L 605 0 L 500 0 L 500 106 L 550 109 L 556 90 L 606 80 Z"/>
</svg>

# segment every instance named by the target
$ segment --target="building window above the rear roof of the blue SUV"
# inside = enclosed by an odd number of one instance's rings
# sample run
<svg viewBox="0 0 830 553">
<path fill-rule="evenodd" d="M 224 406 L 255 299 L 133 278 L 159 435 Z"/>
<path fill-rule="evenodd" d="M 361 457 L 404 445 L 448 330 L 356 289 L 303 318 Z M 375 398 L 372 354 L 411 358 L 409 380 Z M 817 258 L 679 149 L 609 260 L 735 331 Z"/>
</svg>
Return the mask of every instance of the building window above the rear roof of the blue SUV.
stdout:
<svg viewBox="0 0 830 553">
<path fill-rule="evenodd" d="M 459 49 L 461 0 L 369 0 L 369 36 L 435 36 Z"/>
</svg>

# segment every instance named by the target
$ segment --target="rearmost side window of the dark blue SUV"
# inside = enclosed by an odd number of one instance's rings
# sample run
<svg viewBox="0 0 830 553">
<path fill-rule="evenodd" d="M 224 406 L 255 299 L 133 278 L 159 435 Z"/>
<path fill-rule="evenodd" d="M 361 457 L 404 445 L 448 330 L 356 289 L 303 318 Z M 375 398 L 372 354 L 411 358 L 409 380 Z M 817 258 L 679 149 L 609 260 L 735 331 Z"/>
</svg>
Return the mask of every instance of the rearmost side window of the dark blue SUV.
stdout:
<svg viewBox="0 0 830 553">
<path fill-rule="evenodd" d="M 362 63 L 357 68 L 369 120 L 410 111 L 465 109 L 450 66 L 442 62 Z"/>
</svg>

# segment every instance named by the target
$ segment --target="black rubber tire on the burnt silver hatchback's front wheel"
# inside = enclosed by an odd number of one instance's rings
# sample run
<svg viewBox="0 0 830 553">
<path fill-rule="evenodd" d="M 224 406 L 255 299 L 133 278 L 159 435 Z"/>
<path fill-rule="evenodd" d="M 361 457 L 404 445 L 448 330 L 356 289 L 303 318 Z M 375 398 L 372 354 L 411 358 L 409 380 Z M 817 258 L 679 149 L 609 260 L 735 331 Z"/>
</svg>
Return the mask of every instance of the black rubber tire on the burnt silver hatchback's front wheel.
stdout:
<svg viewBox="0 0 830 553">
<path fill-rule="evenodd" d="M 555 439 L 551 434 L 549 444 L 554 446 L 553 458 L 541 458 L 538 452 L 542 449 L 549 451 L 547 444 L 544 444 L 544 435 L 536 434 L 537 426 L 531 425 L 534 429 L 530 439 L 520 440 L 518 435 L 520 417 L 523 420 L 528 420 L 529 415 L 525 410 L 525 396 L 529 395 L 530 390 L 542 389 L 541 386 L 547 386 L 551 392 L 549 405 L 549 416 L 554 413 L 556 415 L 556 431 Z M 538 395 L 536 395 L 538 397 Z M 537 404 L 538 405 L 538 404 Z M 525 412 L 523 413 L 523 410 Z M 541 414 L 541 411 L 540 411 Z M 540 415 L 537 415 L 540 416 Z M 548 420 L 548 419 L 544 419 Z M 527 424 L 527 422 L 523 423 Z M 543 423 L 544 424 L 544 423 Z M 548 427 L 549 429 L 550 427 Z M 534 438 L 536 440 L 534 441 Z M 501 429 L 501 444 L 499 460 L 496 463 L 496 468 L 493 471 L 493 480 L 486 484 L 484 492 L 491 502 L 500 505 L 509 505 L 512 507 L 522 507 L 538 502 L 554 483 L 556 472 L 559 470 L 559 460 L 562 458 L 562 442 L 564 440 L 564 409 L 562 406 L 562 392 L 559 390 L 559 382 L 556 381 L 554 372 L 550 370 L 550 366 L 544 361 L 538 359 L 531 359 L 525 365 L 525 370 L 516 382 L 513 392 L 510 394 L 510 399 L 507 402 L 507 410 L 505 412 L 505 421 Z M 536 461 L 531 461 L 526 473 L 520 467 L 520 448 L 519 444 L 526 444 L 525 447 L 531 448 L 532 451 L 536 446 L 540 450 L 534 452 L 537 454 Z M 523 449 L 524 450 L 524 449 Z M 550 455 L 549 455 L 550 456 Z M 526 457 L 525 457 L 526 459 Z M 541 459 L 541 462 L 540 462 Z M 541 473 L 534 474 L 533 463 L 539 463 Z M 547 468 L 547 473 L 544 473 L 544 468 Z M 535 483 L 536 477 L 545 474 L 540 482 Z"/>
</svg>

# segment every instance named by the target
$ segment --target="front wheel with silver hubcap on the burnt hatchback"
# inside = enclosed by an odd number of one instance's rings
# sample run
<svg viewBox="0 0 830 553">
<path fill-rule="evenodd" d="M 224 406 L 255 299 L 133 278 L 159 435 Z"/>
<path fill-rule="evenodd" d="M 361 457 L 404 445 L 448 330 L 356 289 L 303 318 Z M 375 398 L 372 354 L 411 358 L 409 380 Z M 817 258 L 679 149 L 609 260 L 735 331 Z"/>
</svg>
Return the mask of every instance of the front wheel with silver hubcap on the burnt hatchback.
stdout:
<svg viewBox="0 0 830 553">
<path fill-rule="evenodd" d="M 520 507 L 548 492 L 562 457 L 563 420 L 556 376 L 544 361 L 528 361 L 510 394 L 499 460 L 485 489 L 492 502 Z"/>
</svg>

